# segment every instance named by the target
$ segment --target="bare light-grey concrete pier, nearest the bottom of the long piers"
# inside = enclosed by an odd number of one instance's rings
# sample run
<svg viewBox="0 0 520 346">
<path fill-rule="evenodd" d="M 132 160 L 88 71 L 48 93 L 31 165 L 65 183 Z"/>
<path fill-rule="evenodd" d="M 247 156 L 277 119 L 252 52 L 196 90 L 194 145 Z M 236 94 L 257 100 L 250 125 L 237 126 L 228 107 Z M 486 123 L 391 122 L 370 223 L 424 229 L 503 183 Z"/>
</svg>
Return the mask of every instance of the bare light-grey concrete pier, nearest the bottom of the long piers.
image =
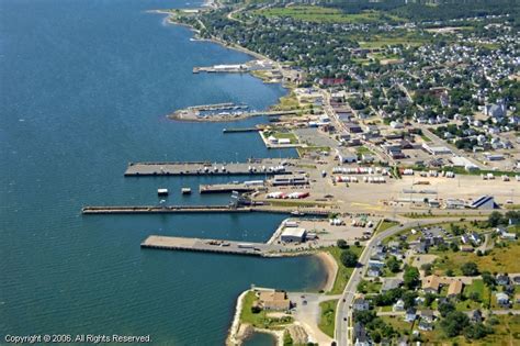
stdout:
<svg viewBox="0 0 520 346">
<path fill-rule="evenodd" d="M 263 243 L 231 242 L 160 235 L 148 236 L 143 243 L 140 243 L 140 247 L 261 257 L 272 257 L 273 255 L 275 255 L 275 253 L 281 253 L 283 250 L 282 246 Z"/>
</svg>

